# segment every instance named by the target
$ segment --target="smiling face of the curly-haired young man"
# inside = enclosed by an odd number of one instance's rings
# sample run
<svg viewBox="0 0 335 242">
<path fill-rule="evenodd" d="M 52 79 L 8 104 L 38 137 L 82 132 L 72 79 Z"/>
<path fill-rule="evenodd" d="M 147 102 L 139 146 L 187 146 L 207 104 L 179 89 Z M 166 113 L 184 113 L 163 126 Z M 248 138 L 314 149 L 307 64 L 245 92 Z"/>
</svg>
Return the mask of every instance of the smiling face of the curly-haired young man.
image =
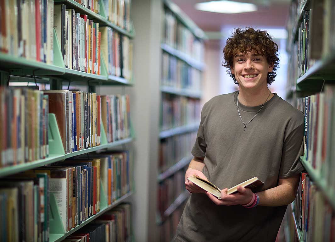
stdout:
<svg viewBox="0 0 335 242">
<path fill-rule="evenodd" d="M 231 74 L 235 75 L 240 88 L 254 89 L 267 86 L 267 75 L 271 72 L 273 65 L 270 65 L 266 58 L 257 51 L 237 53 L 233 60 Z"/>
</svg>

